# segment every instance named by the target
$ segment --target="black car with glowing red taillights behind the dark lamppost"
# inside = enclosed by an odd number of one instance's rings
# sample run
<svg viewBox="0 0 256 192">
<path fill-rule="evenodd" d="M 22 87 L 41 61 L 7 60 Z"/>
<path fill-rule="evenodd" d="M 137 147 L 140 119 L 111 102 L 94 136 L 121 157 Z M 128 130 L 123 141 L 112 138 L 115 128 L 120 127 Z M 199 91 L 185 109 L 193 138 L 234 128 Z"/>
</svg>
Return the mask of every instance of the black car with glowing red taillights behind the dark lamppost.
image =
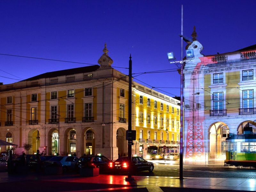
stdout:
<svg viewBox="0 0 256 192">
<path fill-rule="evenodd" d="M 154 163 L 148 162 L 140 156 L 132 156 L 132 163 L 128 161 L 128 157 L 119 157 L 114 161 L 114 170 L 116 172 L 127 172 L 130 167 L 131 172 L 154 170 Z"/>
</svg>

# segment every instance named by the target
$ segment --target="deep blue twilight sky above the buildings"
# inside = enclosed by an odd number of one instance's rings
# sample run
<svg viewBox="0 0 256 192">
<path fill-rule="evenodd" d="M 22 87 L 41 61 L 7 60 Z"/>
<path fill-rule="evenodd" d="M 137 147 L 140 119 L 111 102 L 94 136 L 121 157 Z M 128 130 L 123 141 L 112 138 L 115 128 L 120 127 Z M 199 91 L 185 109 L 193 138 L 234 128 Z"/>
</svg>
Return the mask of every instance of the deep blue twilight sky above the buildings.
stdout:
<svg viewBox="0 0 256 192">
<path fill-rule="evenodd" d="M 0 54 L 98 64 L 107 43 L 114 68 L 128 67 L 131 53 L 132 73 L 175 69 L 166 53 L 173 51 L 180 60 L 181 4 L 183 34 L 191 37 L 195 25 L 204 55 L 256 44 L 255 0 L 1 0 Z M 0 66 L 0 82 L 10 84 L 87 65 L 0 55 Z M 143 74 L 135 81 L 150 88 L 174 87 L 160 89 L 180 96 L 180 76 L 172 71 Z"/>
</svg>

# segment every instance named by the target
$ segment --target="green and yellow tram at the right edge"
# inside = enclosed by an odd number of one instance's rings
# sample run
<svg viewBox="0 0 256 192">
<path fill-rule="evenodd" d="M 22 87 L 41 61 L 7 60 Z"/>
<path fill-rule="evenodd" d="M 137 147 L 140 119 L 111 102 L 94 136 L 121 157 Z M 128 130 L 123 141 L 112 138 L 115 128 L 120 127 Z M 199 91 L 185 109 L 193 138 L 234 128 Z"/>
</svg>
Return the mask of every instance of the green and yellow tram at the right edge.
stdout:
<svg viewBox="0 0 256 192">
<path fill-rule="evenodd" d="M 249 128 L 245 129 L 245 128 Z M 251 127 L 245 127 L 244 134 L 229 134 L 226 139 L 226 160 L 224 165 L 256 168 L 256 134 Z"/>
</svg>

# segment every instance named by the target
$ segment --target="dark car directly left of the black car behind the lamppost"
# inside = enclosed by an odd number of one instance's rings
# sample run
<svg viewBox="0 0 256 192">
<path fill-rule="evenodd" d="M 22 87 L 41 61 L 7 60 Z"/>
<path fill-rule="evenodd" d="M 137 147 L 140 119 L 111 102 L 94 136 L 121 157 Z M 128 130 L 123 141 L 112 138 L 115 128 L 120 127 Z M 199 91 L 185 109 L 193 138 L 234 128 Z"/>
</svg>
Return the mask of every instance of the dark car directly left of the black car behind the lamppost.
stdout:
<svg viewBox="0 0 256 192">
<path fill-rule="evenodd" d="M 81 156 L 76 163 L 77 168 L 82 167 L 99 167 L 100 172 L 107 172 L 112 170 L 113 161 L 103 155 L 86 155 Z"/>
</svg>

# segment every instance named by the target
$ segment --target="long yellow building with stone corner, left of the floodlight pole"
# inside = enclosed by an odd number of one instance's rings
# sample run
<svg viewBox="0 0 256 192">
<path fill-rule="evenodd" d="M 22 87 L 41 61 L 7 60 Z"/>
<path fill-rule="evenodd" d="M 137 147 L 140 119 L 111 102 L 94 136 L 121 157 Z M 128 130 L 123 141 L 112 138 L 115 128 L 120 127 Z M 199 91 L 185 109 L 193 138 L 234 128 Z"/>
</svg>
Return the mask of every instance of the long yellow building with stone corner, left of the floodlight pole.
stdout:
<svg viewBox="0 0 256 192">
<path fill-rule="evenodd" d="M 127 155 L 128 76 L 111 67 L 107 53 L 105 45 L 100 65 L 0 85 L 0 139 L 18 145 L 12 146 L 18 155 L 24 143 L 32 144 L 30 154 Z M 164 145 L 166 152 L 179 151 L 179 100 L 136 82 L 132 95 L 132 154 Z"/>
</svg>

